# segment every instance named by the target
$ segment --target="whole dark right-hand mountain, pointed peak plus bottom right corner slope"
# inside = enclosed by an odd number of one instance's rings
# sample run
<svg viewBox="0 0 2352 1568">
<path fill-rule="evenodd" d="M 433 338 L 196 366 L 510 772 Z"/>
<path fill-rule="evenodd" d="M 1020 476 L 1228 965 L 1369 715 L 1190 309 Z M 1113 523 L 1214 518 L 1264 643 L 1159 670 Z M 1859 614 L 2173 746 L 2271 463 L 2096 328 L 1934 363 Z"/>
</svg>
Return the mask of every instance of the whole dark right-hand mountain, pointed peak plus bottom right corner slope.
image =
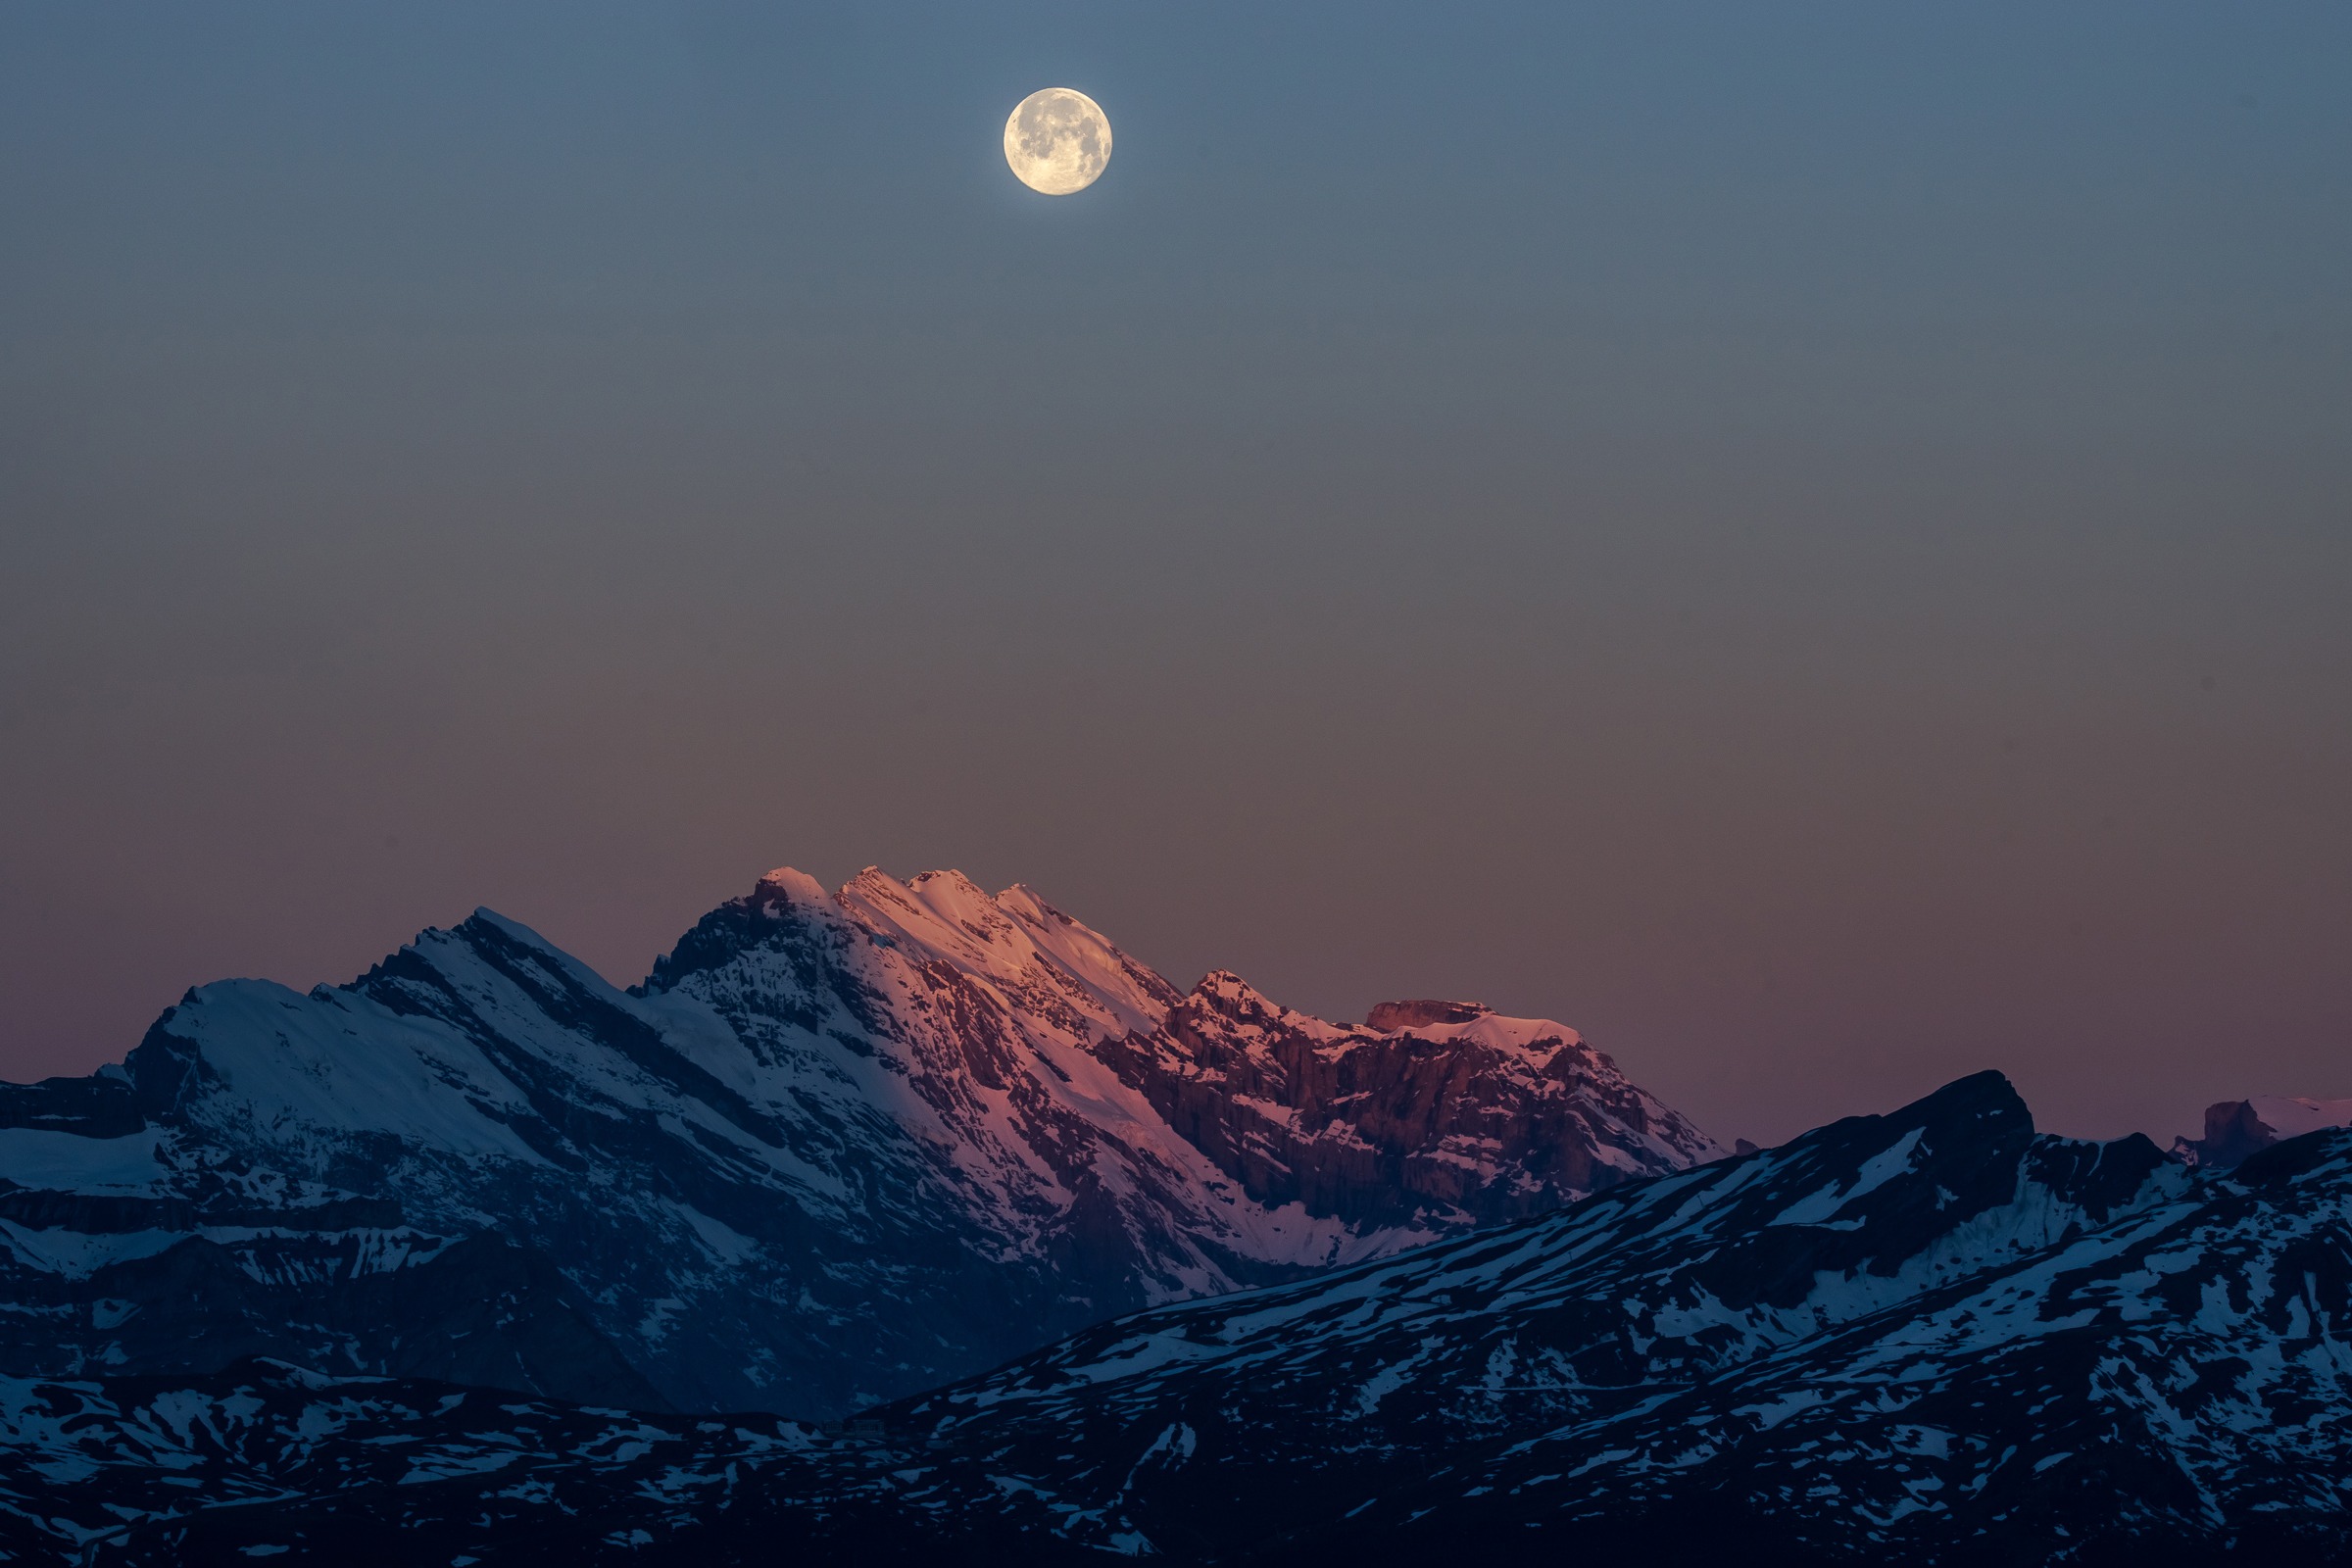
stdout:
<svg viewBox="0 0 2352 1568">
<path fill-rule="evenodd" d="M 2232 1175 L 1999 1079 L 891 1410 L 826 1537 L 1183 1561 L 2331 1563 L 2352 1135 Z"/>
</svg>

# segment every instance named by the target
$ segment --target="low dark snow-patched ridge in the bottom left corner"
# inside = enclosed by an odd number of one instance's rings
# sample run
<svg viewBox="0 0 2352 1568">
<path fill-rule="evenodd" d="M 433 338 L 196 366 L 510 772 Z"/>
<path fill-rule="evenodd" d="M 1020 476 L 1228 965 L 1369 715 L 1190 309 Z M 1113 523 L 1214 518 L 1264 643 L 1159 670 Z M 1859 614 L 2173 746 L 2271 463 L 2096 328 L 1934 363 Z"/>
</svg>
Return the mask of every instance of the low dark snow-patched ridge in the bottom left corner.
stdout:
<svg viewBox="0 0 2352 1568">
<path fill-rule="evenodd" d="M 0 1561 L 470 1563 L 503 1512 L 527 1519 L 536 1561 L 583 1563 L 633 1547 L 630 1526 L 724 1516 L 748 1474 L 821 1441 L 771 1415 L 663 1420 L 285 1363 L 0 1378 Z M 374 1509 L 336 1528 L 346 1497 Z M 409 1500 L 445 1516 L 409 1519 Z M 240 1530 L 263 1516 L 259 1537 Z"/>
</svg>

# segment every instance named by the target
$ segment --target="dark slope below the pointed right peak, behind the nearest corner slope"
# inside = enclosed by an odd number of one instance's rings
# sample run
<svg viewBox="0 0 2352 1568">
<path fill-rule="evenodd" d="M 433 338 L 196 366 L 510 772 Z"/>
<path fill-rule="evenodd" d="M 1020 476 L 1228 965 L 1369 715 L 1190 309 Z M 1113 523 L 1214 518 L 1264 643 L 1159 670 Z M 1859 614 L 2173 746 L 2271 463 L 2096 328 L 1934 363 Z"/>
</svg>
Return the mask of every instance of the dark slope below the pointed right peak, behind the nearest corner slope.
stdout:
<svg viewBox="0 0 2352 1568">
<path fill-rule="evenodd" d="M 1566 1213 L 1103 1324 L 898 1418 L 1021 1474 L 1091 1455 L 1087 1476 L 1051 1479 L 1080 1535 L 1094 1521 L 1103 1542 L 1157 1540 L 1192 1514 L 1265 1533 L 1312 1521 L 1334 1486 L 1378 1490 L 1465 1439 L 1616 1418 L 2190 1185 L 2145 1138 L 2037 1138 L 1980 1074 Z M 1134 1455 L 1117 1453 L 1162 1429 L 1190 1434 L 1190 1479 L 1152 1505 L 1122 1490 Z"/>
</svg>

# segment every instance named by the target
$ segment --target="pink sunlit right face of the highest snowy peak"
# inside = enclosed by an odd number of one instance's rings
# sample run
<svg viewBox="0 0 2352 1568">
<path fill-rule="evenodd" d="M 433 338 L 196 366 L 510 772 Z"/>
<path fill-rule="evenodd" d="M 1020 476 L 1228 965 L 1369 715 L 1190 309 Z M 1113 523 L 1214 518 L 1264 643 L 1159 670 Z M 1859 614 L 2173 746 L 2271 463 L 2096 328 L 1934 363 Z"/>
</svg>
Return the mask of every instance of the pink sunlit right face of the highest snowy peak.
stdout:
<svg viewBox="0 0 2352 1568">
<path fill-rule="evenodd" d="M 969 1124 L 976 1145 L 997 1145 L 988 1166 L 1028 1171 L 1089 1150 L 1096 1171 L 1091 1145 L 1105 1135 L 1148 1147 L 1157 1168 L 1240 1182 L 1265 1206 L 1301 1206 L 1312 1225 L 1275 1227 L 1287 1239 L 1272 1251 L 1272 1232 L 1240 1244 L 1270 1265 L 1392 1251 L 1724 1154 L 1559 1023 L 1423 999 L 1385 1001 L 1350 1027 L 1294 1013 L 1225 971 L 1181 994 L 1035 891 L 1016 884 L 990 896 L 955 870 L 898 882 L 868 867 L 823 893 L 786 867 L 762 877 L 753 898 L 762 893 L 849 922 L 884 969 L 913 961 L 891 990 L 974 992 L 917 1009 L 960 1018 L 967 1037 L 910 1081 L 948 1086 L 985 1060 L 988 1077 L 1016 1070 L 1004 1079 L 1014 1100 L 1030 1095 L 1023 1081 L 1040 1086 L 1040 1105 L 1021 1114 L 1042 1121 L 990 1124 L 985 1135 Z M 1014 1027 L 1002 1039 L 988 1027 L 974 1037 L 993 1018 Z M 1110 1081 L 1096 1081 L 1103 1067 Z M 934 1114 L 957 1117 L 960 1098 L 946 1095 Z M 1047 1126 L 1063 1114 L 1084 1131 Z M 1122 1185 L 1148 1192 L 1155 1180 L 1131 1171 Z M 1016 1187 L 1000 1201 L 1028 1208 Z M 1348 1234 L 1327 1234 L 1331 1220 Z M 1319 1255 L 1296 1251 L 1305 1237 Z M 1216 1265 L 1181 1272 L 1225 1279 L 1211 1288 L 1240 1284 Z M 1152 1295 L 1167 1300 L 1164 1288 Z"/>
</svg>

